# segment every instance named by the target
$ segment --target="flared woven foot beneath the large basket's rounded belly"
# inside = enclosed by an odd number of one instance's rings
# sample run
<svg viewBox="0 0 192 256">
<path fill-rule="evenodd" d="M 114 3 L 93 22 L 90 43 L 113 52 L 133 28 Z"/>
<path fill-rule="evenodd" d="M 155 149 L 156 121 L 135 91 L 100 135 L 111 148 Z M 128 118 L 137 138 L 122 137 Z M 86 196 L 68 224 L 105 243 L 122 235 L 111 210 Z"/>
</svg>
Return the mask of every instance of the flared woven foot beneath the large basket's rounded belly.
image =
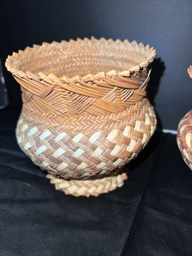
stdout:
<svg viewBox="0 0 192 256">
<path fill-rule="evenodd" d="M 51 179 L 51 184 L 55 184 L 56 190 L 63 190 L 66 195 L 89 197 L 99 196 L 101 193 L 108 193 L 117 187 L 122 187 L 123 181 L 127 179 L 127 174 L 117 172 L 113 176 L 96 180 L 64 180 L 51 173 L 48 173 L 46 177 Z"/>
</svg>

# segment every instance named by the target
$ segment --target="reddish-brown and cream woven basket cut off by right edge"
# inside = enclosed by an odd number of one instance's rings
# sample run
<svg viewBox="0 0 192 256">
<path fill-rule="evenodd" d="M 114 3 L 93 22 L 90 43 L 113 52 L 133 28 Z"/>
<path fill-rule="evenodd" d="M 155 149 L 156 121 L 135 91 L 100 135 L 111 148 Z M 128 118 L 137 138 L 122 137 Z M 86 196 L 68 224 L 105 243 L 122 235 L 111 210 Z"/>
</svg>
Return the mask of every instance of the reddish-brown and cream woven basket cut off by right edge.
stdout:
<svg viewBox="0 0 192 256">
<path fill-rule="evenodd" d="M 187 71 L 192 78 L 192 66 L 189 66 Z M 180 120 L 176 138 L 183 160 L 192 170 L 192 110 Z"/>
</svg>

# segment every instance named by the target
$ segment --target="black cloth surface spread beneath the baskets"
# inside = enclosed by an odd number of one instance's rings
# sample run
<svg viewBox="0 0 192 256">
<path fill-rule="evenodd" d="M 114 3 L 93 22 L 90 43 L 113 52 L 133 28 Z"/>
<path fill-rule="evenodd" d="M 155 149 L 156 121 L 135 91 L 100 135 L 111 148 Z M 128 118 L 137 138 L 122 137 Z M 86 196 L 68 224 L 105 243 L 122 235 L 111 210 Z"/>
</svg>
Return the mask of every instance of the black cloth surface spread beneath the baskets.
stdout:
<svg viewBox="0 0 192 256">
<path fill-rule="evenodd" d="M 156 132 L 122 188 L 66 196 L 20 150 L 19 109 L 0 110 L 0 255 L 192 255 L 192 172 Z"/>
</svg>

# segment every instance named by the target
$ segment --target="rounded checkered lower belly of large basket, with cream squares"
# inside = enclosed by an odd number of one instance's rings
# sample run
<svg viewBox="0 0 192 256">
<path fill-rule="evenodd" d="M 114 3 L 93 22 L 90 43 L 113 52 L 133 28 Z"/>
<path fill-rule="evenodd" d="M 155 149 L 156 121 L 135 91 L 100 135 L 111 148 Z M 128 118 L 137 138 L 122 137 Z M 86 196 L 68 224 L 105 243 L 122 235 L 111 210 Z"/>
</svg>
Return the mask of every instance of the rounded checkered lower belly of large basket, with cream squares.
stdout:
<svg viewBox="0 0 192 256">
<path fill-rule="evenodd" d="M 147 99 L 132 108 L 132 113 L 127 109 L 125 115 L 119 115 L 122 124 L 109 118 L 94 118 L 93 124 L 69 118 L 60 124 L 60 118 L 52 120 L 49 114 L 26 105 L 16 128 L 18 144 L 34 164 L 66 179 L 112 174 L 139 154 L 155 127 Z"/>
</svg>

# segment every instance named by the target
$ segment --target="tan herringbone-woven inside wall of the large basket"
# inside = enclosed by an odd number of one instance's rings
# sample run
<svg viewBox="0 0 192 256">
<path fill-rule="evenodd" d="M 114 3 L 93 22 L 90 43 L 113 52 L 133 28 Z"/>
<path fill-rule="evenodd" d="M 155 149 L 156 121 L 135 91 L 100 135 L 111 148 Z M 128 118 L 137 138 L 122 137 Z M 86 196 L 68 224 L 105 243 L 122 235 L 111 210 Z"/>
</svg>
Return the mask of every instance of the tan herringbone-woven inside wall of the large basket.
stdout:
<svg viewBox="0 0 192 256">
<path fill-rule="evenodd" d="M 111 39 L 84 39 L 26 48 L 24 54 L 14 60 L 14 66 L 24 73 L 29 71 L 35 75 L 39 72 L 57 77 L 76 75 L 85 76 L 116 69 L 117 72 L 128 70 L 148 59 L 148 45 L 136 44 L 135 41 L 123 43 Z"/>
</svg>

